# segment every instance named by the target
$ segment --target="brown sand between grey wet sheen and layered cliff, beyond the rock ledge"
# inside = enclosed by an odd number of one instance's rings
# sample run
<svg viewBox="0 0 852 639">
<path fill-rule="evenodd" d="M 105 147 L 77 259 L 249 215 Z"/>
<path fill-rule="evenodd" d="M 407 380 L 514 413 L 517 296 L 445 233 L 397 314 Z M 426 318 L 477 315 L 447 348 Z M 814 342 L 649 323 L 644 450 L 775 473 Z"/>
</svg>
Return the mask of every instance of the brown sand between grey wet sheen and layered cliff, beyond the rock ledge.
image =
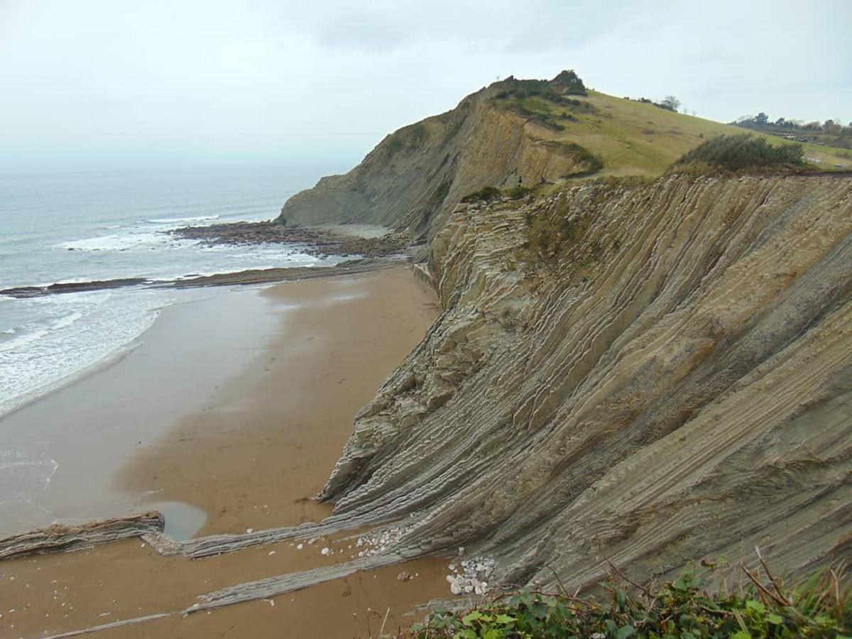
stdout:
<svg viewBox="0 0 852 639">
<path fill-rule="evenodd" d="M 120 483 L 208 515 L 199 534 L 320 521 L 353 417 L 437 314 L 406 269 L 263 291 L 289 308 L 249 370 L 139 452 Z"/>
</svg>

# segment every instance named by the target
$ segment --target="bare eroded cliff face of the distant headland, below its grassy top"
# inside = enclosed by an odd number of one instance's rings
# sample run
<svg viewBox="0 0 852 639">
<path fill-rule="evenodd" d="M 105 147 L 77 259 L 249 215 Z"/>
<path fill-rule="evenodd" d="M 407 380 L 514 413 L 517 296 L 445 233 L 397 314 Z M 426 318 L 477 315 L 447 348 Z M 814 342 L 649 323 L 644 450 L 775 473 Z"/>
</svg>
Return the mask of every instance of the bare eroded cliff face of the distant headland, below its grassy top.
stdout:
<svg viewBox="0 0 852 639">
<path fill-rule="evenodd" d="M 589 170 L 588 160 L 550 139 L 540 124 L 495 107 L 499 83 L 455 109 L 388 135 L 343 176 L 324 177 L 281 209 L 291 226 L 371 223 L 431 238 L 468 193 Z"/>
</svg>

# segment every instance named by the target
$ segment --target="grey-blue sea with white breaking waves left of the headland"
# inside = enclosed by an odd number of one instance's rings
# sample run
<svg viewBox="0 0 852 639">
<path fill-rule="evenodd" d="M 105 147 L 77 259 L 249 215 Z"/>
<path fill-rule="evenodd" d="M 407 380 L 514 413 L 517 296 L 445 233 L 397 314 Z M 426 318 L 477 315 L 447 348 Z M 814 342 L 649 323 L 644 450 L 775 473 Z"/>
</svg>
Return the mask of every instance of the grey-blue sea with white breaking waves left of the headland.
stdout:
<svg viewBox="0 0 852 639">
<path fill-rule="evenodd" d="M 0 175 L 0 290 L 336 262 L 333 256 L 308 256 L 298 245 L 208 247 L 168 233 L 268 220 L 292 193 L 328 172 Z M 0 296 L 0 418 L 132 348 L 175 298 L 175 291 L 142 287 Z"/>
</svg>

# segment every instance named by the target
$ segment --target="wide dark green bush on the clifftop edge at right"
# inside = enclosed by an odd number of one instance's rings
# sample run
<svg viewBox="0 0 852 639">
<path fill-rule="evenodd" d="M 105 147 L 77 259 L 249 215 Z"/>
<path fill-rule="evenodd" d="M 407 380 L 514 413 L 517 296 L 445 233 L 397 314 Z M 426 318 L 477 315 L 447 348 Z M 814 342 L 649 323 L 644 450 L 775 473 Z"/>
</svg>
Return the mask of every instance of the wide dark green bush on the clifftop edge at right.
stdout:
<svg viewBox="0 0 852 639">
<path fill-rule="evenodd" d="M 725 170 L 782 169 L 802 167 L 803 155 L 804 149 L 799 144 L 774 147 L 754 135 L 723 135 L 685 153 L 674 165 L 705 164 Z"/>
</svg>

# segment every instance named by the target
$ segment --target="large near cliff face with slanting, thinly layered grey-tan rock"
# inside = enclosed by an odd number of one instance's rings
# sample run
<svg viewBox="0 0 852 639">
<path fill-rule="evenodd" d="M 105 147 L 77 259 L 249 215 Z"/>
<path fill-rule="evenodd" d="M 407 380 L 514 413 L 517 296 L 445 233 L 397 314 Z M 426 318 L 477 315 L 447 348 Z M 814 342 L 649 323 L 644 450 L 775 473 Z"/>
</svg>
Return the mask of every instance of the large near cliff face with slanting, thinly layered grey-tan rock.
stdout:
<svg viewBox="0 0 852 639">
<path fill-rule="evenodd" d="M 568 587 L 852 550 L 848 176 L 462 204 L 430 250 L 443 314 L 357 416 L 336 515 Z"/>
</svg>

